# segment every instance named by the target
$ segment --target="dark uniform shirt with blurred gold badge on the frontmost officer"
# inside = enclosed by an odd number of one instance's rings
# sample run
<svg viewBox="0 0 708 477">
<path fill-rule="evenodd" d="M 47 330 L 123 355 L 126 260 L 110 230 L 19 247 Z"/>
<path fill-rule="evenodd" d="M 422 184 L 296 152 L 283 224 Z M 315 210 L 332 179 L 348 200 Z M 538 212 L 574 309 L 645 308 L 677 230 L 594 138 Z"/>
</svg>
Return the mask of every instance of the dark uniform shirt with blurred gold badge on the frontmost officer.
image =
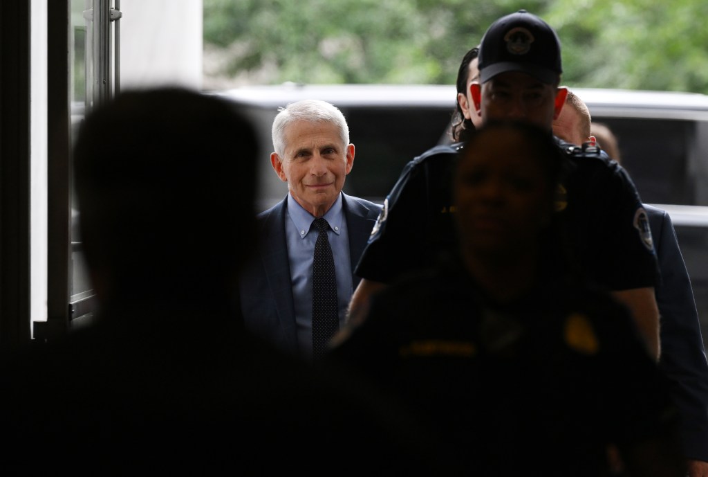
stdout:
<svg viewBox="0 0 708 477">
<path fill-rule="evenodd" d="M 605 293 L 555 280 L 498 305 L 462 270 L 431 272 L 348 330 L 330 358 L 429 418 L 468 475 L 607 475 L 608 443 L 674 432 L 663 375 Z"/>
</svg>

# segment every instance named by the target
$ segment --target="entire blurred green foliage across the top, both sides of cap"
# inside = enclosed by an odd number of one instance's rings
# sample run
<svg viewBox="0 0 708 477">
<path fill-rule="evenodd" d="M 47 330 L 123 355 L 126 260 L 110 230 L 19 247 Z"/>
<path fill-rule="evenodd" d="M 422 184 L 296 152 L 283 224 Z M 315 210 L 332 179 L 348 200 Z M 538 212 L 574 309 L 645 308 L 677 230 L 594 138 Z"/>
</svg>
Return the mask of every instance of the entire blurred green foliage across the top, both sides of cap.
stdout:
<svg viewBox="0 0 708 477">
<path fill-rule="evenodd" d="M 564 84 L 708 93 L 705 0 L 203 0 L 221 74 L 265 82 L 452 84 L 496 18 L 556 28 Z"/>
</svg>

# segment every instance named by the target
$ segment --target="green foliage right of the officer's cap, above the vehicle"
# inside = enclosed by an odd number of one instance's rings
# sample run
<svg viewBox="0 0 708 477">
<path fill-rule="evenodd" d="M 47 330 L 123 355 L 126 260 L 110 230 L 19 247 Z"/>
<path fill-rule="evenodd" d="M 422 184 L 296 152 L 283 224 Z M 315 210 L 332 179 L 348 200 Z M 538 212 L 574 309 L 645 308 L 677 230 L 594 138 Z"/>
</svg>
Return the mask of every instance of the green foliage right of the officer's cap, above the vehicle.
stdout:
<svg viewBox="0 0 708 477">
<path fill-rule="evenodd" d="M 575 6 L 573 8 L 572 6 Z M 544 16 L 576 86 L 708 93 L 705 1 L 557 1 Z"/>
</svg>

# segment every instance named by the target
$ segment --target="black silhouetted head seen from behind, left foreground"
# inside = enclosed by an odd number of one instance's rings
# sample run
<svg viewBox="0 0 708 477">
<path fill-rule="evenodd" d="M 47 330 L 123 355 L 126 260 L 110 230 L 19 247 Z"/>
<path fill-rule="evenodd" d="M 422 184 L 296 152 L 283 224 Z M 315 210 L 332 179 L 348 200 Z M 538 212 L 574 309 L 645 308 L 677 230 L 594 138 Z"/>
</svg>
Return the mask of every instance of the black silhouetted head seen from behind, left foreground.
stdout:
<svg viewBox="0 0 708 477">
<path fill-rule="evenodd" d="M 249 120 L 196 91 L 126 91 L 89 114 L 74 171 L 100 303 L 229 294 L 253 240 L 257 155 Z"/>
</svg>

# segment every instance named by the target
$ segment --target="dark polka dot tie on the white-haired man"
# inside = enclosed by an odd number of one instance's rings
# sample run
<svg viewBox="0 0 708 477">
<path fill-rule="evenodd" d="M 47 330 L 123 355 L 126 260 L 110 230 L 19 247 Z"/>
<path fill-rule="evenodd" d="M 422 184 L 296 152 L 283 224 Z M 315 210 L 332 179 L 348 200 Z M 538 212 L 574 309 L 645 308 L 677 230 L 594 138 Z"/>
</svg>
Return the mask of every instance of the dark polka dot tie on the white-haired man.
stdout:
<svg viewBox="0 0 708 477">
<path fill-rule="evenodd" d="M 317 359 L 326 352 L 327 342 L 339 329 L 339 305 L 334 257 L 327 238 L 329 223 L 316 218 L 312 228 L 318 232 L 312 266 L 312 356 Z"/>
</svg>

